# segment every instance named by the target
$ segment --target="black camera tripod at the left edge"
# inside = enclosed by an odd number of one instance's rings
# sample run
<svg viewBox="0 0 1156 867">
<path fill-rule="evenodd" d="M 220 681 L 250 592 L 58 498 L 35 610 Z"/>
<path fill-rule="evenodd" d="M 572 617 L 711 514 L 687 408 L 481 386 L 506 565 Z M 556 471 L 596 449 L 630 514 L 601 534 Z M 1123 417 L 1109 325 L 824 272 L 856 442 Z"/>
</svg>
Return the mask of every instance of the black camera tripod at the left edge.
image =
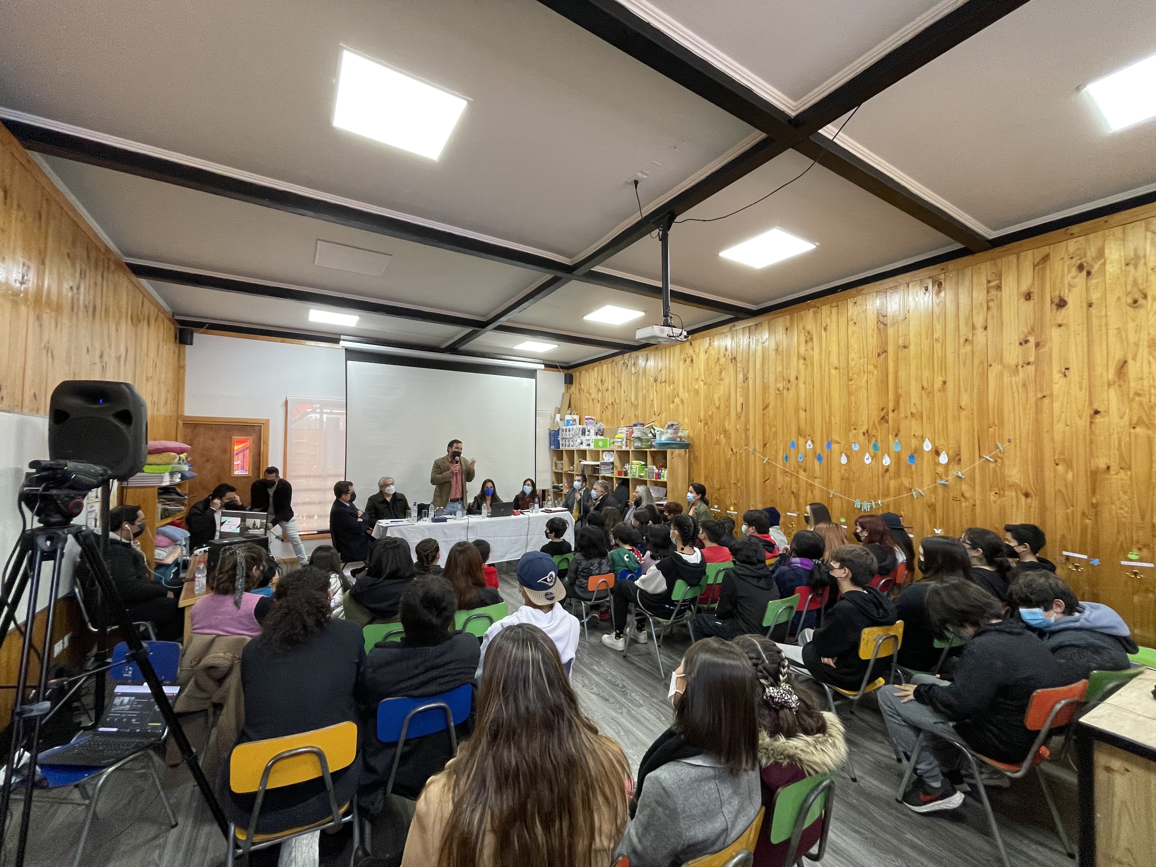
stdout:
<svg viewBox="0 0 1156 867">
<path fill-rule="evenodd" d="M 108 491 L 108 489 L 105 489 L 105 491 Z M 106 501 L 108 494 L 105 494 L 105 502 Z M 208 779 L 205 777 L 205 772 L 201 770 L 201 766 L 197 761 L 197 754 L 190 746 L 188 739 L 185 736 L 185 732 L 180 726 L 180 721 L 177 719 L 177 714 L 172 710 L 172 705 L 169 703 L 168 696 L 164 694 L 161 680 L 153 669 L 153 665 L 148 658 L 148 649 L 136 635 L 136 629 L 133 627 L 128 612 L 125 609 L 125 603 L 120 598 L 120 592 L 117 590 L 116 584 L 113 584 L 112 577 L 109 575 L 109 569 L 105 565 L 104 560 L 101 557 L 101 549 L 96 534 L 83 525 L 67 524 L 62 519 L 46 517 L 44 520 L 46 526 L 32 527 L 21 533 L 15 551 L 15 563 L 13 564 L 13 569 L 5 577 L 2 590 L 0 590 L 0 593 L 2 593 L 2 598 L 0 598 L 0 606 L 2 606 L 2 615 L 0 615 L 0 636 L 8 635 L 8 630 L 16 623 L 17 608 L 27 608 L 23 643 L 20 651 L 20 668 L 16 675 L 15 702 L 12 712 L 12 746 L 8 749 L 7 763 L 5 765 L 3 785 L 0 787 L 0 852 L 2 852 L 3 842 L 7 836 L 6 820 L 12 798 L 13 779 L 17 771 L 17 756 L 27 741 L 28 746 L 24 748 L 24 751 L 28 755 L 28 763 L 24 765 L 22 783 L 25 790 L 24 805 L 20 820 L 20 837 L 16 847 L 15 865 L 16 867 L 22 867 L 24 864 L 29 823 L 32 816 L 32 793 L 35 792 L 36 762 L 40 753 L 40 728 L 45 720 L 55 710 L 52 707 L 52 703 L 46 701 L 46 690 L 49 686 L 49 669 L 52 660 L 52 623 L 55 616 L 57 595 L 59 593 L 61 581 L 64 553 L 69 536 L 75 539 L 76 543 L 80 546 L 81 561 L 88 568 L 89 575 L 91 575 L 96 581 L 102 607 L 111 614 L 112 620 L 116 621 L 117 627 L 120 629 L 120 633 L 125 643 L 128 645 L 128 655 L 126 661 L 135 662 L 141 673 L 144 675 L 144 682 L 148 683 L 148 687 L 153 692 L 153 698 L 156 701 L 157 707 L 164 717 L 164 721 L 169 727 L 169 734 L 176 742 L 177 748 L 180 751 L 181 759 L 193 775 L 193 780 L 197 783 L 197 787 L 200 788 L 201 794 L 205 798 L 205 802 L 209 806 L 213 817 L 221 828 L 221 833 L 227 835 L 229 827 L 228 820 L 221 809 L 221 805 L 217 803 L 213 788 L 209 785 Z M 105 524 L 105 526 L 108 526 L 108 524 Z M 38 650 L 40 670 L 35 686 L 32 686 L 29 683 L 29 675 L 30 664 L 32 662 L 31 654 L 34 651 L 34 632 L 36 631 L 34 625 L 36 617 L 36 600 L 40 595 L 43 585 L 42 566 L 50 562 L 52 563 L 52 572 L 49 578 L 47 609 L 45 613 L 44 624 L 44 645 Z M 27 602 L 22 606 L 21 600 L 23 599 L 27 599 Z M 101 646 L 103 646 L 103 643 Z M 81 675 L 81 677 L 75 679 L 77 683 L 69 690 L 65 701 L 67 701 L 67 698 L 80 688 L 84 680 L 103 675 L 104 672 L 109 670 L 111 667 L 112 666 L 109 664 L 108 659 L 101 659 L 95 669 L 86 672 Z M 98 680 L 98 684 L 101 682 L 103 682 L 103 677 Z M 103 696 L 99 701 L 103 701 Z M 64 702 L 58 703 L 57 706 L 62 706 L 62 704 Z"/>
</svg>

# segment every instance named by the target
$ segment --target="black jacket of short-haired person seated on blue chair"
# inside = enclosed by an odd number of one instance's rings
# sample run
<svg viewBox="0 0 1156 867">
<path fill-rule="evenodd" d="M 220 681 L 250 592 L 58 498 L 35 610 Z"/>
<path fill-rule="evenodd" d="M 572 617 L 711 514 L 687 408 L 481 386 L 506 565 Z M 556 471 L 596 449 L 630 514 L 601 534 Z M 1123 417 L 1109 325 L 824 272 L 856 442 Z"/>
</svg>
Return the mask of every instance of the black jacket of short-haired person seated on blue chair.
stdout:
<svg viewBox="0 0 1156 867">
<path fill-rule="evenodd" d="M 365 727 L 377 731 L 377 706 L 385 698 L 424 698 L 474 683 L 474 672 L 481 659 L 481 646 L 468 632 L 454 632 L 449 640 L 432 647 L 415 647 L 400 642 L 378 642 L 369 652 L 361 672 Z M 473 717 L 457 726 L 458 742 L 473 733 Z M 377 735 L 364 739 L 361 802 L 376 810 L 390 779 L 394 744 L 384 744 Z M 451 758 L 450 738 L 436 732 L 424 738 L 406 739 L 401 763 L 393 783 L 394 794 L 415 799 L 425 780 L 439 773 Z"/>
</svg>

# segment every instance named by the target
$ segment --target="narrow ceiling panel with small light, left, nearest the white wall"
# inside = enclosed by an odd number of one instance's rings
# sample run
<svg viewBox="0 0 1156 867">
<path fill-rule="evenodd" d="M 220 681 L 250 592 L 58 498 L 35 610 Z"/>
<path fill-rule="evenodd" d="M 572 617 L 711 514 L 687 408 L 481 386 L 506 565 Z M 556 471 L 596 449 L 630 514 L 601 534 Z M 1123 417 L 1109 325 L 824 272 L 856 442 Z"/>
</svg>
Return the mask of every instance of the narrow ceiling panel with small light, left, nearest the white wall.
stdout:
<svg viewBox="0 0 1156 867">
<path fill-rule="evenodd" d="M 305 304 L 283 298 L 261 298 L 237 292 L 223 292 L 216 289 L 200 287 L 173 286 L 150 280 L 157 295 L 172 309 L 178 319 L 203 319 L 218 323 L 251 325 L 259 328 L 281 331 L 317 332 L 320 334 L 349 334 L 376 340 L 397 340 L 405 343 L 422 343 L 432 347 L 440 346 L 460 329 L 433 323 L 421 323 L 410 319 L 363 313 L 349 310 L 340 304 Z M 327 325 L 312 323 L 309 319 L 311 307 L 353 313 L 358 317 L 356 325 Z M 269 371 L 266 371 L 269 372 Z"/>
</svg>

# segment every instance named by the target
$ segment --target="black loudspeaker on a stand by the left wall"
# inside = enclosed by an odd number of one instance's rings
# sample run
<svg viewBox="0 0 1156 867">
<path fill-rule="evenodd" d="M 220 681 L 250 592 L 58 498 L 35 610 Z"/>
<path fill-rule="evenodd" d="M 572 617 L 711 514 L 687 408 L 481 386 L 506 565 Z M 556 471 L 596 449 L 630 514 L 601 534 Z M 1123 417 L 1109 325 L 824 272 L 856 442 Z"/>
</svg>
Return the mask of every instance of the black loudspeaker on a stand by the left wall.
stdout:
<svg viewBox="0 0 1156 867">
<path fill-rule="evenodd" d="M 128 383 L 68 379 L 49 401 L 49 458 L 108 467 L 113 479 L 141 472 L 148 458 L 148 412 Z"/>
</svg>

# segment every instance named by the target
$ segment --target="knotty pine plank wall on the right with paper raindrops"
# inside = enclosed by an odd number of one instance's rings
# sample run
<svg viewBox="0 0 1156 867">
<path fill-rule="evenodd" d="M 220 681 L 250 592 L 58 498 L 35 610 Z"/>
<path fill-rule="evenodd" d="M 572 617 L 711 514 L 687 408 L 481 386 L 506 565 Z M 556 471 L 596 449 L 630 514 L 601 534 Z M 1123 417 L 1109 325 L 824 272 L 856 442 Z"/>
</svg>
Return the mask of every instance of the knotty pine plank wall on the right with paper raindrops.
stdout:
<svg viewBox="0 0 1156 867">
<path fill-rule="evenodd" d="M 875 511 L 901 512 L 917 535 L 1038 524 L 1081 598 L 1151 646 L 1156 570 L 1136 578 L 1120 561 L 1156 560 L 1154 295 L 1146 206 L 581 368 L 571 406 L 614 425 L 681 421 L 691 477 L 724 509 L 822 502 L 851 524 L 857 498 L 897 497 Z M 965 469 L 1006 439 L 995 464 Z M 1075 571 L 1061 550 L 1101 563 Z"/>
</svg>

